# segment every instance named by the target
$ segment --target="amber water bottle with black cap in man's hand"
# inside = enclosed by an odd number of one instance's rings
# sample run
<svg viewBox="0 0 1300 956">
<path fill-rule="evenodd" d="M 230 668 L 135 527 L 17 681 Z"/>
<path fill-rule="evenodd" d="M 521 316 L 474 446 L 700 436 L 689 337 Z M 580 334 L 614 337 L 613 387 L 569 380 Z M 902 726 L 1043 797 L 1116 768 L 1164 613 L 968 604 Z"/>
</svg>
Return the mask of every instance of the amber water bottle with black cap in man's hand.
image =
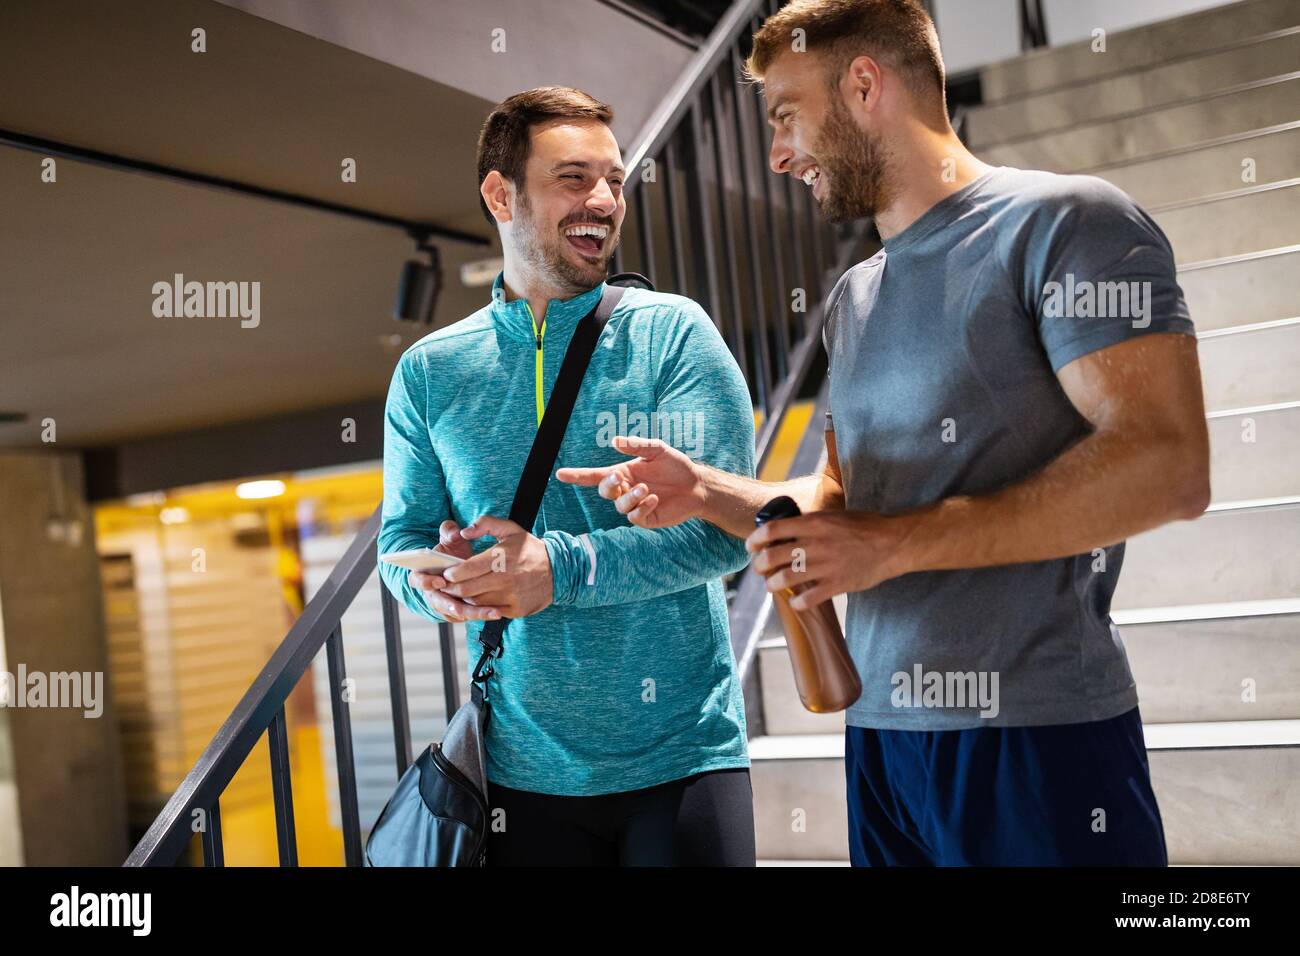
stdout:
<svg viewBox="0 0 1300 956">
<path fill-rule="evenodd" d="M 754 515 L 754 524 L 762 527 L 777 518 L 797 518 L 800 506 L 793 498 L 772 498 Z M 779 544 L 779 542 L 777 542 Z M 784 588 L 772 594 L 776 614 L 785 628 L 785 646 L 794 667 L 794 687 L 803 706 L 815 714 L 844 710 L 862 693 L 858 669 L 853 666 L 849 648 L 844 643 L 840 618 L 831 601 L 797 611 L 790 598 L 798 591 Z"/>
</svg>

